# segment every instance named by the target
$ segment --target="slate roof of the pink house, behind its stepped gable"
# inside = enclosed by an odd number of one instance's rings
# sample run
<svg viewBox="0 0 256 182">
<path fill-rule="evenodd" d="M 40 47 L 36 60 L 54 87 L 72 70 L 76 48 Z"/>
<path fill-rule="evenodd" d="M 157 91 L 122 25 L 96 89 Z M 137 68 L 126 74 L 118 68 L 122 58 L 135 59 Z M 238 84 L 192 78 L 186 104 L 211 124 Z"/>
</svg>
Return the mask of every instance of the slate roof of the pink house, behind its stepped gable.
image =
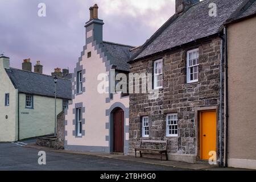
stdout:
<svg viewBox="0 0 256 182">
<path fill-rule="evenodd" d="M 110 64 L 115 65 L 118 70 L 129 71 L 130 65 L 127 63 L 130 60 L 133 46 L 127 46 L 123 44 L 117 44 L 112 42 L 102 42 L 102 49 L 106 56 L 110 60 Z"/>
</svg>

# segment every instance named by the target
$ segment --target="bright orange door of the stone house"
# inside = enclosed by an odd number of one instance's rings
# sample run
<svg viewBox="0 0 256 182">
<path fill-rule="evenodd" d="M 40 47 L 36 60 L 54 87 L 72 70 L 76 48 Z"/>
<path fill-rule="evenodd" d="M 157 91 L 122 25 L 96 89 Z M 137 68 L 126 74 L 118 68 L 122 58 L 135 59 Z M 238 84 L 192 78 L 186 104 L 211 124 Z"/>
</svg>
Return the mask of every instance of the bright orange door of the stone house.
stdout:
<svg viewBox="0 0 256 182">
<path fill-rule="evenodd" d="M 200 113 L 200 151 L 201 159 L 208 160 L 209 152 L 216 151 L 216 111 Z"/>
</svg>

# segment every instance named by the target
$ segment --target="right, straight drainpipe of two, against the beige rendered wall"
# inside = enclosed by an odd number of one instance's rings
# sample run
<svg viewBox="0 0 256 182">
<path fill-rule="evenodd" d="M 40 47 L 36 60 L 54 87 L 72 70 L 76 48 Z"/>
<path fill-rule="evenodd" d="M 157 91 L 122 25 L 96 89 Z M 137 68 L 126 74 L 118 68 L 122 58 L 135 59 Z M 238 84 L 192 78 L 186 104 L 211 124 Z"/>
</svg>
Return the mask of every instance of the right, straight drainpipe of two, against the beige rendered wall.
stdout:
<svg viewBox="0 0 256 182">
<path fill-rule="evenodd" d="M 229 103 L 228 103 L 228 32 L 224 27 L 225 34 L 225 145 L 224 145 L 224 167 L 228 167 L 228 119 L 229 119 Z"/>
</svg>

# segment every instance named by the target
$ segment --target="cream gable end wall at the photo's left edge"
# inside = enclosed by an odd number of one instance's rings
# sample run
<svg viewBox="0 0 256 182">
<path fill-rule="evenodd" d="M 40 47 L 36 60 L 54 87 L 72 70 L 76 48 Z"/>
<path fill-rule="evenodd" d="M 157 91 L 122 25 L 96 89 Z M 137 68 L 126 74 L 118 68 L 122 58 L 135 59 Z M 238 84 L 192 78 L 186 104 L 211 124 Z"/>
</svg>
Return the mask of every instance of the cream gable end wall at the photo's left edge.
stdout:
<svg viewBox="0 0 256 182">
<path fill-rule="evenodd" d="M 0 142 L 14 142 L 18 139 L 18 93 L 14 88 L 0 59 Z M 10 94 L 10 106 L 5 106 L 5 94 Z M 6 119 L 7 115 L 7 119 Z"/>
</svg>

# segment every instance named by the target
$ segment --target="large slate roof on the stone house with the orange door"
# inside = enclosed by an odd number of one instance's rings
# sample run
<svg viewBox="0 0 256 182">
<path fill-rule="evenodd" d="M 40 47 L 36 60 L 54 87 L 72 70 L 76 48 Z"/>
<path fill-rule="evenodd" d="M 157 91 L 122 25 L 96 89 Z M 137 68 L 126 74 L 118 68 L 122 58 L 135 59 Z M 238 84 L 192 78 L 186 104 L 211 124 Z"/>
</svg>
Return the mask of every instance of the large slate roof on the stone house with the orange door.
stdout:
<svg viewBox="0 0 256 182">
<path fill-rule="evenodd" d="M 175 14 L 143 44 L 141 51 L 132 60 L 217 34 L 243 1 L 204 0 L 196 3 L 183 14 Z M 216 3 L 216 17 L 209 16 L 209 3 Z"/>
</svg>

